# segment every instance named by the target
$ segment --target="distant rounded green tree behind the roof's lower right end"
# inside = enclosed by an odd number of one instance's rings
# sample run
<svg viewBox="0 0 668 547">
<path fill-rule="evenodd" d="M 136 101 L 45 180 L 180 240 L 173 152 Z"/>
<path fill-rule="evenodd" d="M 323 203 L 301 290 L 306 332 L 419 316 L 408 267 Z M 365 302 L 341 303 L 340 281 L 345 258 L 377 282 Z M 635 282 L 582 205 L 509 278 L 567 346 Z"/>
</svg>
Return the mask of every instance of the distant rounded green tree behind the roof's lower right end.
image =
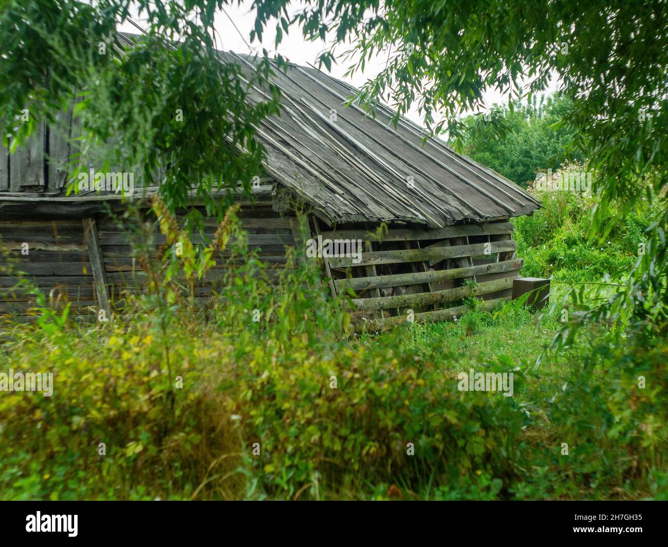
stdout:
<svg viewBox="0 0 668 547">
<path fill-rule="evenodd" d="M 536 178 L 538 170 L 556 170 L 562 164 L 560 156 L 574 136 L 572 128 L 564 126 L 564 116 L 572 102 L 560 94 L 540 100 L 515 100 L 511 107 L 495 105 L 489 113 L 466 116 L 461 143 L 464 152 L 510 178 L 517 184 Z M 496 118 L 494 124 L 492 117 Z M 503 134 L 498 128 L 503 124 Z M 583 160 L 581 154 L 576 160 Z"/>
</svg>

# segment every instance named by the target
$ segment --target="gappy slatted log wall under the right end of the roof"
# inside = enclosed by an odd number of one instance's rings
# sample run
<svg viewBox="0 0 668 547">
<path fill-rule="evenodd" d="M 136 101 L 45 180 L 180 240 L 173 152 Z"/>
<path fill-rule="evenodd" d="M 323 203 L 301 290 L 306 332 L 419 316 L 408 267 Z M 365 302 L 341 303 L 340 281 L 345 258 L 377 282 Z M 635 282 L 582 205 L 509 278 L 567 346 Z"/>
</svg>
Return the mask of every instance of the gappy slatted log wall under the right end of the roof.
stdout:
<svg viewBox="0 0 668 547">
<path fill-rule="evenodd" d="M 411 319 L 452 319 L 470 296 L 490 306 L 510 299 L 522 267 L 512 230 L 510 222 L 428 230 L 397 226 L 379 240 L 371 228 L 351 225 L 322 231 L 321 236 L 363 242 L 357 264 L 351 256 L 337 256 L 325 258 L 325 266 L 337 293 L 355 291 L 357 328 L 379 330 Z"/>
</svg>

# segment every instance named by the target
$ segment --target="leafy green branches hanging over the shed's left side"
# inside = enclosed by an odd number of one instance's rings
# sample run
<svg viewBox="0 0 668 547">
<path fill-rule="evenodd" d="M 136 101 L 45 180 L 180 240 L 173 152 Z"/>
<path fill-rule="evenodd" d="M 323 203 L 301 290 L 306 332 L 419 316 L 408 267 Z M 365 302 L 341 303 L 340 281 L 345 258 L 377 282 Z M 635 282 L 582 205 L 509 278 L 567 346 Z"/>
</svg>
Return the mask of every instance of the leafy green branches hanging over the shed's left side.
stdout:
<svg viewBox="0 0 668 547">
<path fill-rule="evenodd" d="M 42 120 L 76 104 L 82 164 L 104 143 L 109 164 L 146 178 L 167 166 L 161 193 L 174 210 L 188 191 L 208 198 L 261 174 L 255 124 L 277 114 L 269 58 L 244 79 L 216 55 L 213 22 L 225 0 L 5 0 L 0 6 L 0 134 L 14 148 Z M 134 47 L 116 33 L 130 8 L 146 32 Z M 278 59 L 279 65 L 283 59 Z M 248 101 L 266 85 L 270 99 Z M 24 121 L 22 114 L 29 116 Z M 220 212 L 220 210 L 218 210 Z"/>
</svg>

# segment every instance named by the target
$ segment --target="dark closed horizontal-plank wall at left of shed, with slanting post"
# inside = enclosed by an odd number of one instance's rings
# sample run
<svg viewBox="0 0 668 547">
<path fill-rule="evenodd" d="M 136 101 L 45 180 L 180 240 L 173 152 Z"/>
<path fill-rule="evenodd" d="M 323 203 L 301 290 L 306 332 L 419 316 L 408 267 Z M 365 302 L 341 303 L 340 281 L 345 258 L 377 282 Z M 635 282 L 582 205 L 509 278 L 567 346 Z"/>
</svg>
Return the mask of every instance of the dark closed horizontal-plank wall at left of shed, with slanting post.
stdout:
<svg viewBox="0 0 668 547">
<path fill-rule="evenodd" d="M 244 208 L 238 216 L 248 232 L 248 249 L 256 250 L 271 269 L 285 266 L 286 247 L 295 246 L 291 219 L 280 216 L 269 206 Z M 177 218 L 182 220 L 182 217 Z M 92 222 L 96 228 L 96 242 L 87 222 Z M 204 232 L 210 237 L 216 231 L 217 222 L 212 219 L 204 222 Z M 148 226 L 144 224 L 143 228 L 139 243 L 149 251 L 157 251 L 165 238 L 156 222 L 150 222 Z M 75 321 L 97 320 L 98 312 L 103 308 L 102 291 L 98 288 L 104 285 L 101 286 L 97 279 L 100 272 L 95 268 L 94 244 L 100 249 L 100 264 L 104 263 L 110 309 L 122 311 L 128 295 L 144 291 L 146 283 L 146 274 L 133 252 L 132 232 L 132 222 L 120 224 L 103 214 L 65 220 L 35 220 L 34 217 L 0 214 L 0 248 L 4 247 L 7 253 L 6 256 L 0 254 L 0 319 L 11 315 L 19 321 L 31 321 L 35 317 L 35 297 L 25 288 L 14 288 L 17 278 L 8 275 L 7 268 L 11 268 L 25 272 L 47 297 L 51 297 L 56 309 L 70 302 Z M 228 254 L 218 256 L 216 266 L 196 286 L 198 303 L 206 304 L 220 288 L 228 271 L 225 268 Z M 269 275 L 275 277 L 271 270 Z"/>
</svg>

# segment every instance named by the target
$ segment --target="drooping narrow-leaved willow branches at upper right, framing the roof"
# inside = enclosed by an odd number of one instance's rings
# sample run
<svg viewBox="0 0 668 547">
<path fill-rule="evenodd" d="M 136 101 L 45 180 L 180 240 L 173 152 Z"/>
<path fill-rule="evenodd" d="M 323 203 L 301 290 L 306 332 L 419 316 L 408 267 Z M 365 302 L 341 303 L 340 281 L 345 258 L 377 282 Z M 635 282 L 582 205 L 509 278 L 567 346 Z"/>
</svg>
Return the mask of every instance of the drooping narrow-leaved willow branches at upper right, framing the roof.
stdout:
<svg viewBox="0 0 668 547">
<path fill-rule="evenodd" d="M 258 21 L 273 24 L 288 0 L 257 0 Z M 644 254 L 623 286 L 590 308 L 573 293 L 573 320 L 557 345 L 573 342 L 578 325 L 605 320 L 619 347 L 635 351 L 668 335 L 668 9 L 665 0 L 576 0 L 534 3 L 505 0 L 320 0 L 293 22 L 311 39 L 335 35 L 321 61 L 341 45 L 349 72 L 371 55 L 387 65 L 355 100 L 373 112 L 380 99 L 398 119 L 417 104 L 426 125 L 461 140 L 463 112 L 482 110 L 482 92 L 519 96 L 545 92 L 558 77 L 572 132 L 566 155 L 581 154 L 595 182 L 591 236 L 605 240 L 625 211 L 661 200 L 665 213 L 647 232 Z M 436 118 L 440 114 L 440 118 Z M 658 197 L 657 197 L 658 196 Z M 614 212 L 614 215 L 610 213 Z M 611 222 L 603 222 L 611 218 Z M 649 333 L 649 336 L 648 336 Z M 625 336 L 629 341 L 622 342 Z"/>
</svg>

